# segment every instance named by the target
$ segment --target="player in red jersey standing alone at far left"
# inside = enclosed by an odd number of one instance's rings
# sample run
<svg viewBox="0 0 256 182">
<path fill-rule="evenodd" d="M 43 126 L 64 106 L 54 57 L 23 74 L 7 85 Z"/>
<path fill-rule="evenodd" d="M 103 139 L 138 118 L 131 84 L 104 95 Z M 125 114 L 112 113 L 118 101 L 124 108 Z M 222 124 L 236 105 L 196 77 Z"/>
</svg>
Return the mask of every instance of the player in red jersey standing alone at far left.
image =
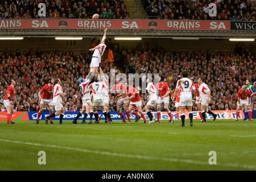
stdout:
<svg viewBox="0 0 256 182">
<path fill-rule="evenodd" d="M 16 85 L 16 82 L 14 79 L 11 79 L 11 85 L 7 87 L 6 94 L 5 94 L 5 100 L 3 101 L 3 104 L 5 105 L 6 111 L 7 111 L 7 122 L 6 124 L 14 124 L 15 122 L 11 121 L 11 116 L 13 115 L 13 100 L 17 102 L 15 93 L 16 90 L 14 86 Z"/>
</svg>

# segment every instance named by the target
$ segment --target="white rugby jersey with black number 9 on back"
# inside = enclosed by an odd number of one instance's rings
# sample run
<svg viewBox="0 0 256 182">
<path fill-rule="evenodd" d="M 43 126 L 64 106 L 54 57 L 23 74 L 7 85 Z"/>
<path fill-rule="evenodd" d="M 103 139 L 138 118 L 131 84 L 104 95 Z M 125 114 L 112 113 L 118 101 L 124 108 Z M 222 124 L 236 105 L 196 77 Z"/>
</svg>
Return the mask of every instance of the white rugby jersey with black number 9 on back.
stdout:
<svg viewBox="0 0 256 182">
<path fill-rule="evenodd" d="M 176 89 L 180 90 L 180 95 L 182 94 L 192 94 L 191 91 L 195 90 L 195 85 L 189 78 L 181 78 L 177 81 Z"/>
</svg>

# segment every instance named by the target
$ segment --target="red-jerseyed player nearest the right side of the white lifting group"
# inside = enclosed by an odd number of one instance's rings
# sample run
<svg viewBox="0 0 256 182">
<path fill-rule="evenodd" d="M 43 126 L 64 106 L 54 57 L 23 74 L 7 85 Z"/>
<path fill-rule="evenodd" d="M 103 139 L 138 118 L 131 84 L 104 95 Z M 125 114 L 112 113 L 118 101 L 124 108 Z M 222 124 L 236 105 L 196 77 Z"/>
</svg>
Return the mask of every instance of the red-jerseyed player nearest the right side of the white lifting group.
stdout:
<svg viewBox="0 0 256 182">
<path fill-rule="evenodd" d="M 114 91 L 117 92 L 117 96 L 115 96 L 115 98 L 118 99 L 117 112 L 122 118 L 122 123 L 126 123 L 125 115 L 123 115 L 123 112 L 122 112 L 122 107 L 123 107 L 123 110 L 125 111 L 128 122 L 130 122 L 131 121 L 130 113 L 128 111 L 129 100 L 127 100 L 128 96 L 127 96 L 126 86 L 122 84 L 121 81 L 122 81 L 122 78 L 119 78 L 119 77 L 115 78 L 116 84 L 112 87 L 112 89 L 110 89 L 110 93 L 113 93 Z"/>
</svg>

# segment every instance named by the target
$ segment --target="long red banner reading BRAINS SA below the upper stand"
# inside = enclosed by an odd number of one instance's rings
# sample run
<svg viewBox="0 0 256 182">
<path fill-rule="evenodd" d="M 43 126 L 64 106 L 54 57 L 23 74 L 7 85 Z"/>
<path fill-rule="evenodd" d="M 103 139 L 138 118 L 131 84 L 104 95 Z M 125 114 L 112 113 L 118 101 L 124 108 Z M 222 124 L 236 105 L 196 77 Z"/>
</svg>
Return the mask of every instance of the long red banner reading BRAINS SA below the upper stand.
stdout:
<svg viewBox="0 0 256 182">
<path fill-rule="evenodd" d="M 2 19 L 0 29 L 230 30 L 221 20 Z"/>
</svg>

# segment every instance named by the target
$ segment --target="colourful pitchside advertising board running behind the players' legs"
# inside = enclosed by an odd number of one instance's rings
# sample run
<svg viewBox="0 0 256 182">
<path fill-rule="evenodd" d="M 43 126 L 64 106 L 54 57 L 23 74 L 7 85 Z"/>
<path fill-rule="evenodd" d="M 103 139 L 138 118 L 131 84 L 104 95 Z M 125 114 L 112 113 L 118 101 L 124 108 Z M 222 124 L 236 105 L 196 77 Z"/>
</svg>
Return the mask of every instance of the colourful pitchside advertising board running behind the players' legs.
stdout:
<svg viewBox="0 0 256 182">
<path fill-rule="evenodd" d="M 67 111 L 64 114 L 63 120 L 73 120 L 76 118 L 76 115 L 79 113 L 79 111 Z M 102 113 L 102 111 L 98 112 L 101 119 L 105 120 L 104 114 Z M 176 112 L 171 112 L 172 113 L 172 118 L 173 119 L 177 119 L 177 115 Z M 200 119 L 199 117 L 199 113 L 198 111 L 193 111 L 193 119 Z M 213 111 L 213 113 L 217 114 L 217 119 L 236 119 L 236 110 L 215 110 Z M 154 115 L 154 117 L 156 118 L 156 112 L 152 112 L 152 114 Z M 49 112 L 43 112 L 40 120 L 44 120 L 44 117 L 47 117 L 49 115 Z M 110 111 L 110 115 L 112 117 L 112 120 L 121 120 L 120 115 L 116 112 L 116 111 Z M 124 114 L 125 115 L 125 114 Z M 148 116 L 146 113 L 144 113 L 146 119 L 148 119 Z M 186 115 L 186 119 L 188 118 L 188 112 L 185 112 Z M 240 115 L 239 115 L 239 119 L 243 119 L 244 118 L 244 114 L 243 111 L 240 111 Z M 125 115 L 126 117 L 126 115 Z M 24 111 L 16 111 L 13 113 L 13 118 L 12 121 L 35 121 L 38 118 L 38 112 L 24 112 Z M 82 120 L 84 118 L 84 115 L 82 114 L 81 117 L 79 118 L 79 120 Z M 130 118 L 136 119 L 135 115 L 130 114 Z M 207 119 L 213 119 L 212 115 L 206 114 L 206 118 Z M 256 118 L 256 110 L 253 111 L 253 118 Z M 94 115 L 93 115 L 93 120 L 94 120 Z M 126 118 L 127 119 L 127 118 Z M 161 112 L 160 115 L 160 119 L 169 119 L 169 116 L 167 114 L 167 112 Z M 54 117 L 53 120 L 59 120 L 59 116 L 58 117 Z M 89 120 L 89 116 L 86 118 L 86 120 Z M 7 112 L 0 112 L 0 121 L 7 121 Z M 142 121 L 142 119 L 141 119 Z"/>
</svg>

